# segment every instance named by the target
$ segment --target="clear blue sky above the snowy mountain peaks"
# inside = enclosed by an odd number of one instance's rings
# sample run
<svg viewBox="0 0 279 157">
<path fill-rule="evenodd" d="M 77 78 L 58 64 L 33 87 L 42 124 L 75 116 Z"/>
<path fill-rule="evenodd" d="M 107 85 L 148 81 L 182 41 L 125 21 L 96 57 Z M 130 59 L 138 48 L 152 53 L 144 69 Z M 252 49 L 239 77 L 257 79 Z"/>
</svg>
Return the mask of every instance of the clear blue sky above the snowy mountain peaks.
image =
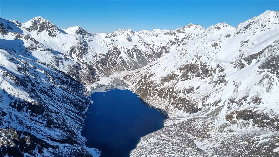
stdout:
<svg viewBox="0 0 279 157">
<path fill-rule="evenodd" d="M 0 17 L 26 22 L 42 16 L 59 28 L 81 26 L 88 32 L 118 29 L 176 29 L 188 23 L 208 28 L 226 22 L 237 26 L 266 10 L 279 10 L 279 1 L 6 1 Z"/>
</svg>

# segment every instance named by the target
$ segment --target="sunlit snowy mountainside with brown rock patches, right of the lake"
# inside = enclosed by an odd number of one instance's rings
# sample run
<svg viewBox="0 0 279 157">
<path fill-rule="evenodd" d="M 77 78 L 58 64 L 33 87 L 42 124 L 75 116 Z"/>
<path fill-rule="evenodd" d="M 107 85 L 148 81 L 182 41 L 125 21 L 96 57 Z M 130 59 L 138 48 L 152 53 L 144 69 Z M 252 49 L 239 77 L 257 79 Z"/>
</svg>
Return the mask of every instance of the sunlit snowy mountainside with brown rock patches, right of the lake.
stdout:
<svg viewBox="0 0 279 157">
<path fill-rule="evenodd" d="M 141 98 L 171 113 L 132 156 L 278 155 L 278 16 L 211 26 L 125 76 Z"/>
</svg>

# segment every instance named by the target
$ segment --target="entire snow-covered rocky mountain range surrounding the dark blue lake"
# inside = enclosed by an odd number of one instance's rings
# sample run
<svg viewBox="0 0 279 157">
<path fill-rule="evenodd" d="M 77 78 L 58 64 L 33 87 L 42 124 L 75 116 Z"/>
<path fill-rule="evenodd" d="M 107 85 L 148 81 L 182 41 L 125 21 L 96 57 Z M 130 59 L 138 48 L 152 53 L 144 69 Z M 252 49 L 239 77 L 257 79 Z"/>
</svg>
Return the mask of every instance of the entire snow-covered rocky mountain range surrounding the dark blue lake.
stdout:
<svg viewBox="0 0 279 157">
<path fill-rule="evenodd" d="M 84 85 L 131 71 L 121 79 L 170 115 L 131 156 L 276 156 L 278 50 L 278 11 L 236 28 L 109 34 L 0 18 L 0 152 L 98 156 L 80 136 Z"/>
</svg>

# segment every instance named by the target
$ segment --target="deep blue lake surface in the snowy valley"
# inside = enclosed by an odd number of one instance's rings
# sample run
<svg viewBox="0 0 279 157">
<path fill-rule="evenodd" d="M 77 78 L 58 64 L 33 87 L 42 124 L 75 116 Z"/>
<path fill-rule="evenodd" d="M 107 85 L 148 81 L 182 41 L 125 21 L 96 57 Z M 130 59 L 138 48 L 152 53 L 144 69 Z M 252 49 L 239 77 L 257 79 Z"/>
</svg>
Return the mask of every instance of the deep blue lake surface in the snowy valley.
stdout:
<svg viewBox="0 0 279 157">
<path fill-rule="evenodd" d="M 128 157 L 142 136 L 163 128 L 167 115 L 129 90 L 93 93 L 81 136 L 100 157 Z"/>
</svg>

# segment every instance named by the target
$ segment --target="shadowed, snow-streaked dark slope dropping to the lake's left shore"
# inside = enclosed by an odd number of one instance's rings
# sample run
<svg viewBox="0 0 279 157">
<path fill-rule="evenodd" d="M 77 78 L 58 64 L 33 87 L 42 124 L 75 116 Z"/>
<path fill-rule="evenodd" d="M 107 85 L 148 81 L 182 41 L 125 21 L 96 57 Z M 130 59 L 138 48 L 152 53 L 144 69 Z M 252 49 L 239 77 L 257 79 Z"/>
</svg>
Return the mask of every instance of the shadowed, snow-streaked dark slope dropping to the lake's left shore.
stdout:
<svg viewBox="0 0 279 157">
<path fill-rule="evenodd" d="M 0 53 L 0 125 L 7 128 L 0 129 L 0 154 L 49 156 L 61 152 L 67 156 L 67 150 L 73 156 L 89 156 L 81 147 L 85 139 L 78 134 L 83 112 L 91 102 L 83 93 L 83 85 L 20 54 L 3 49 Z"/>
</svg>

